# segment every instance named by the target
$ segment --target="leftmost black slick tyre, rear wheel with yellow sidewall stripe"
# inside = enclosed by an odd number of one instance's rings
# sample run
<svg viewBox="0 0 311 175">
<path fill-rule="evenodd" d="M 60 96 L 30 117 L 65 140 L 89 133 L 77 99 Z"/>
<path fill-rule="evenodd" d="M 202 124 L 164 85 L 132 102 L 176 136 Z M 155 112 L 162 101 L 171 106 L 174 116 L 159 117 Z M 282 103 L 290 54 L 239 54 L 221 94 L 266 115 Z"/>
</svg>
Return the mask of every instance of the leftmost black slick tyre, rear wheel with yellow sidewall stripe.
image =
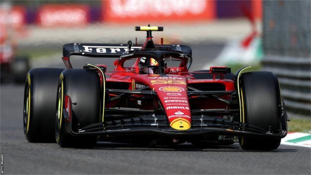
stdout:
<svg viewBox="0 0 311 175">
<path fill-rule="evenodd" d="M 62 71 L 58 68 L 35 68 L 27 73 L 23 124 L 29 142 L 55 142 L 55 97 Z"/>
</svg>

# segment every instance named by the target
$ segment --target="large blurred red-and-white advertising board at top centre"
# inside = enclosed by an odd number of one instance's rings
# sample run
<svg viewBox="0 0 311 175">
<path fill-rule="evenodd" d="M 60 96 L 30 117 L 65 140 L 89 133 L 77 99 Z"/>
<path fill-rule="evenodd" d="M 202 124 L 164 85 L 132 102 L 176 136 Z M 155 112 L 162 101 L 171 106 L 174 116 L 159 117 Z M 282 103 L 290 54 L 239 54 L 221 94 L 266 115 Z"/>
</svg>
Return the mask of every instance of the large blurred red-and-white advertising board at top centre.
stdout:
<svg viewBox="0 0 311 175">
<path fill-rule="evenodd" d="M 215 18 L 210 0 L 103 0 L 103 20 L 129 22 L 193 22 Z"/>
</svg>

